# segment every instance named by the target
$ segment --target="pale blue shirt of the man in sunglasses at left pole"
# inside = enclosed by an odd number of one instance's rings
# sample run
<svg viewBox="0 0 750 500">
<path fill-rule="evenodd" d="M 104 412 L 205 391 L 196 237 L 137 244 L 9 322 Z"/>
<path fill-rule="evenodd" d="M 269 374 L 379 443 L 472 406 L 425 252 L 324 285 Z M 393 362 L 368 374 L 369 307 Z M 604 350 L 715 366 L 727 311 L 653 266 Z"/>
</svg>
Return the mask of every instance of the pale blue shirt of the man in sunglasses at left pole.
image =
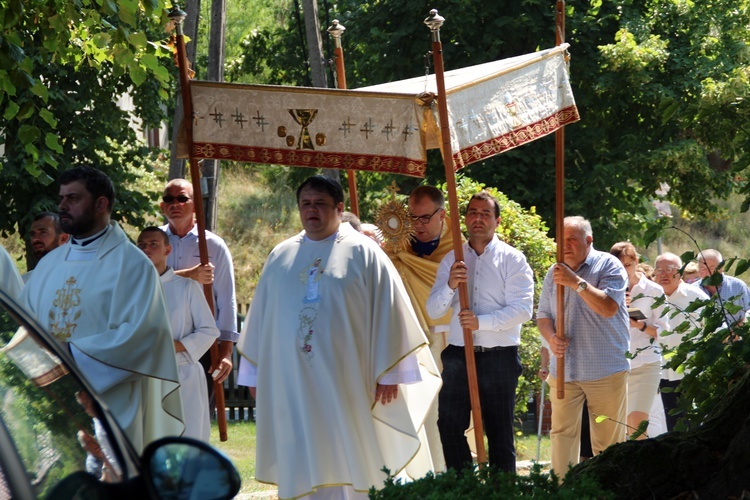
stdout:
<svg viewBox="0 0 750 500">
<path fill-rule="evenodd" d="M 167 257 L 167 265 L 179 271 L 188 269 L 201 263 L 198 252 L 198 226 L 180 238 L 172 232 L 169 224 L 161 226 L 169 236 L 172 253 Z M 229 253 L 224 240 L 211 231 L 206 231 L 206 246 L 208 260 L 214 265 L 214 316 L 219 329 L 219 340 L 237 342 L 240 334 L 237 332 L 237 301 L 234 295 L 234 264 L 232 254 Z"/>
</svg>

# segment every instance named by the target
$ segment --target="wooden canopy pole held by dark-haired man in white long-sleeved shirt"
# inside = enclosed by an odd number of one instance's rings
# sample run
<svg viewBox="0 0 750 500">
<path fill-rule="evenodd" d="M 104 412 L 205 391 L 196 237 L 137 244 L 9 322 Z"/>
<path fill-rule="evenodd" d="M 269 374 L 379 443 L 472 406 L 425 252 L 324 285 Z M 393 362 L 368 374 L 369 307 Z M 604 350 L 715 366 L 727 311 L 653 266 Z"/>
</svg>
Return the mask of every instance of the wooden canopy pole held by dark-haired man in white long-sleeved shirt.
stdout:
<svg viewBox="0 0 750 500">
<path fill-rule="evenodd" d="M 451 209 L 451 234 L 453 235 L 453 252 L 456 261 L 464 260 L 461 245 L 461 226 L 458 211 L 458 196 L 456 195 L 456 172 L 451 149 L 450 123 L 448 122 L 448 101 L 445 94 L 445 68 L 443 67 L 443 45 L 440 41 L 440 27 L 445 18 L 438 15 L 436 9 L 430 10 L 430 15 L 424 20 L 432 32 L 432 57 L 435 64 L 435 82 L 438 90 L 438 116 L 440 118 L 440 137 L 442 142 L 443 164 L 445 166 L 445 181 L 448 186 L 448 202 Z M 469 309 L 469 290 L 466 283 L 459 283 L 458 297 L 461 310 Z M 482 409 L 479 404 L 479 384 L 477 382 L 477 366 L 474 359 L 474 335 L 469 328 L 463 329 L 464 352 L 466 355 L 466 371 L 469 379 L 469 397 L 471 411 L 474 418 L 474 438 L 476 439 L 477 464 L 484 467 L 487 464 L 487 453 L 484 449 L 484 425 Z"/>
</svg>

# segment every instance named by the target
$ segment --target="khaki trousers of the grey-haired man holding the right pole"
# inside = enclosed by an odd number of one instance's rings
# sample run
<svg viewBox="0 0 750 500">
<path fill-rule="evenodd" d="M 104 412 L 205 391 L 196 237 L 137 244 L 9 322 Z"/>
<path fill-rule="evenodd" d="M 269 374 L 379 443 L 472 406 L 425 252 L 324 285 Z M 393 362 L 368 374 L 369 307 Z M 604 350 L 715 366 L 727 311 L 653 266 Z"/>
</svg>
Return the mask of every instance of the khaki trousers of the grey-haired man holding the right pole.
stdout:
<svg viewBox="0 0 750 500">
<path fill-rule="evenodd" d="M 551 376 L 552 402 L 552 469 L 561 479 L 568 467 L 576 465 L 581 447 L 581 412 L 583 401 L 589 407 L 591 448 L 598 455 L 609 445 L 625 441 L 628 408 L 628 372 L 619 372 L 598 380 L 568 382 L 564 399 L 557 398 L 557 380 Z M 596 423 L 596 416 L 609 419 Z M 621 422 L 621 423 L 615 423 Z"/>
</svg>

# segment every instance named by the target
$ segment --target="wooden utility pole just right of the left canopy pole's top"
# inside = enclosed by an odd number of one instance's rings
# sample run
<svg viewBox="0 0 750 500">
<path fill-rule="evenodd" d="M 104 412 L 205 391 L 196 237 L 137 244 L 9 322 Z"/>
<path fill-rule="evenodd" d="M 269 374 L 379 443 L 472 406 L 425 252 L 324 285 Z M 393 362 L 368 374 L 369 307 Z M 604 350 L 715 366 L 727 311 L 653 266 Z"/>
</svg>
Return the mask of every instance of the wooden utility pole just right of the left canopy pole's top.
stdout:
<svg viewBox="0 0 750 500">
<path fill-rule="evenodd" d="M 224 81 L 224 27 L 226 26 L 226 0 L 212 0 L 211 2 L 211 31 L 208 41 L 208 80 L 212 82 Z M 206 180 L 208 198 L 205 204 L 206 229 L 216 230 L 219 213 L 218 191 L 219 160 L 203 160 L 203 179 Z M 201 183 L 203 186 L 203 183 Z"/>
</svg>

